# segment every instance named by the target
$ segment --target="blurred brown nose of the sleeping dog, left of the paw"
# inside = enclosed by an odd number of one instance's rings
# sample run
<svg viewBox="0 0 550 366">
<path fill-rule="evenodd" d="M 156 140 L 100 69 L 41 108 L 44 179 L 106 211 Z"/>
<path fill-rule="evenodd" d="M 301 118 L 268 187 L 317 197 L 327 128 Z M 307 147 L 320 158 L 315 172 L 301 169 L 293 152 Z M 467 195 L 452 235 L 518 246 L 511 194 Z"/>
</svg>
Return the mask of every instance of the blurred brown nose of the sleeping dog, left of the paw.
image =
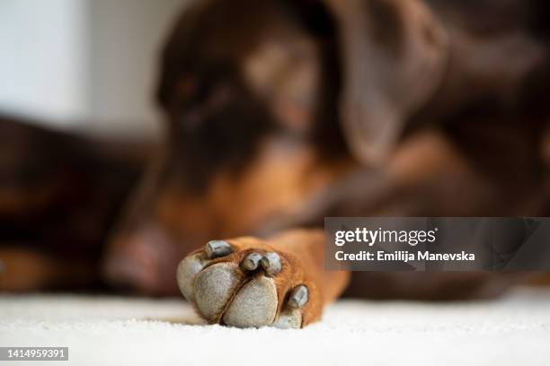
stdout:
<svg viewBox="0 0 550 366">
<path fill-rule="evenodd" d="M 175 270 L 182 253 L 157 227 L 119 235 L 103 264 L 107 282 L 150 295 L 177 294 Z"/>
</svg>

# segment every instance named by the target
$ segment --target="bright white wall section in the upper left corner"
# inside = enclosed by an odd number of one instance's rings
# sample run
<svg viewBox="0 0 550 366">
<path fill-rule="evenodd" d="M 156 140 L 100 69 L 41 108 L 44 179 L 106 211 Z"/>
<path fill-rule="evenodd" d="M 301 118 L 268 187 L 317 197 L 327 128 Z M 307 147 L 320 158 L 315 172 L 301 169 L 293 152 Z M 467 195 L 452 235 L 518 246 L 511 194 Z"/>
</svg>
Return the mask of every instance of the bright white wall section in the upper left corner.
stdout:
<svg viewBox="0 0 550 366">
<path fill-rule="evenodd" d="M 0 1 L 0 109 L 58 124 L 87 108 L 84 0 Z"/>
</svg>

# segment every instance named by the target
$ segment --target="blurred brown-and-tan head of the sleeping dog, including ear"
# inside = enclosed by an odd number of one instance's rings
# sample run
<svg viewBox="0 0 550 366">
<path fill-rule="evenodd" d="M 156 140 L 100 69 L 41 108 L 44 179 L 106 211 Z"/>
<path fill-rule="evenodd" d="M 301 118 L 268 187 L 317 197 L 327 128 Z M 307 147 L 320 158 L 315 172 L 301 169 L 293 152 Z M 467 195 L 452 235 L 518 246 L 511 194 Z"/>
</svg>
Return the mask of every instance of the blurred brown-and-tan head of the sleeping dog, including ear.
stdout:
<svg viewBox="0 0 550 366">
<path fill-rule="evenodd" d="M 192 248 L 291 211 L 342 161 L 381 161 L 435 87 L 440 37 L 410 0 L 191 4 L 161 58 L 167 143 L 115 233 L 111 279 L 170 292 Z"/>
</svg>

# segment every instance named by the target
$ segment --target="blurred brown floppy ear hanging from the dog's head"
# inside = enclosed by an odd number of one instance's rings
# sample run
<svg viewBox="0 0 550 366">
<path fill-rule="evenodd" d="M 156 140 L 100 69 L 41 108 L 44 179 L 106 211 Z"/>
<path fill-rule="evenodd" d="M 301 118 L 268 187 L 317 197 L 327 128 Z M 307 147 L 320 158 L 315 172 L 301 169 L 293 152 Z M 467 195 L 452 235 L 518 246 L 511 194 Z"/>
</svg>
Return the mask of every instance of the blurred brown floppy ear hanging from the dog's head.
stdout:
<svg viewBox="0 0 550 366">
<path fill-rule="evenodd" d="M 341 43 L 345 138 L 359 161 L 380 164 L 439 85 L 447 33 L 421 0 L 324 2 Z"/>
</svg>

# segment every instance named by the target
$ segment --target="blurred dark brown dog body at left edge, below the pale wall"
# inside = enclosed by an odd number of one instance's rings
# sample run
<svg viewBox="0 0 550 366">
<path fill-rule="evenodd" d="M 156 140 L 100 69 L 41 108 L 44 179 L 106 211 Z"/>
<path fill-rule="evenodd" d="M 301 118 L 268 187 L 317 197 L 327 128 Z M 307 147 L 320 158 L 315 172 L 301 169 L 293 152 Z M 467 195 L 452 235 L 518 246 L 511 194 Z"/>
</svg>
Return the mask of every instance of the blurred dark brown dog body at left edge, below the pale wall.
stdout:
<svg viewBox="0 0 550 366">
<path fill-rule="evenodd" d="M 155 143 L 0 116 L 0 288 L 102 288 L 104 243 Z"/>
</svg>

